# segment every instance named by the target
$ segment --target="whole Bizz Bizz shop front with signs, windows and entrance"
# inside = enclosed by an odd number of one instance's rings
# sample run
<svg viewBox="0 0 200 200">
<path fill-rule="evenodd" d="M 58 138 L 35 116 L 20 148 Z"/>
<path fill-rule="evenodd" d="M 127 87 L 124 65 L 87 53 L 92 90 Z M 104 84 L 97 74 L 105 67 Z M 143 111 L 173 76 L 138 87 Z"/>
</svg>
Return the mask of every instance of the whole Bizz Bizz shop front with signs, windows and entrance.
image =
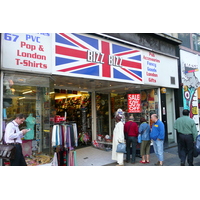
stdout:
<svg viewBox="0 0 200 200">
<path fill-rule="evenodd" d="M 157 113 L 166 145 L 176 142 L 177 41 L 171 54 L 171 46 L 162 52 L 110 34 L 4 33 L 1 44 L 0 126 L 17 113 L 33 117 L 24 154 L 51 155 L 52 128 L 63 121 L 76 123 L 77 146 L 112 140 L 118 109 L 124 121 L 133 115 L 138 124 L 142 116 L 151 124 Z"/>
</svg>

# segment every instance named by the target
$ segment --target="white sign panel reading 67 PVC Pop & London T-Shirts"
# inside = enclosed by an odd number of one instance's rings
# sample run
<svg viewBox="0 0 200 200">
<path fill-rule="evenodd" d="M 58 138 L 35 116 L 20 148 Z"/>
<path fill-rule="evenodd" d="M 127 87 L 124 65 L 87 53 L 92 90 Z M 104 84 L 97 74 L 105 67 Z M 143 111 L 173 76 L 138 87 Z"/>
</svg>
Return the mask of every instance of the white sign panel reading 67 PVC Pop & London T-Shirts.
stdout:
<svg viewBox="0 0 200 200">
<path fill-rule="evenodd" d="M 2 33 L 2 68 L 51 73 L 50 33 Z"/>
</svg>

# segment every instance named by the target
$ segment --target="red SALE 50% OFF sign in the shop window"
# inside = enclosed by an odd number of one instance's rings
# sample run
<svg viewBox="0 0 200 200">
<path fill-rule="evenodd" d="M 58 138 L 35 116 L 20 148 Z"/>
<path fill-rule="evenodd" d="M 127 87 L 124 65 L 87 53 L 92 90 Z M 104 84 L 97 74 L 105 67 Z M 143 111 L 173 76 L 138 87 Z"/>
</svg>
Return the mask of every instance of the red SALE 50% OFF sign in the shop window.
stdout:
<svg viewBox="0 0 200 200">
<path fill-rule="evenodd" d="M 128 94 L 128 113 L 140 113 L 140 94 Z"/>
</svg>

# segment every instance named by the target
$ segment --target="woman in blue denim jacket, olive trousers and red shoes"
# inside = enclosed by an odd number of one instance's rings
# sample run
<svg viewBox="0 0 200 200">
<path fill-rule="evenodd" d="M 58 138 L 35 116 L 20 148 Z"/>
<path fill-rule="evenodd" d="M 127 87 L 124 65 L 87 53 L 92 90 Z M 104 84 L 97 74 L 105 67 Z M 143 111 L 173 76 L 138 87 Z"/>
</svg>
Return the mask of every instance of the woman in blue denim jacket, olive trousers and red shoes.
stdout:
<svg viewBox="0 0 200 200">
<path fill-rule="evenodd" d="M 151 128 L 144 117 L 140 118 L 140 127 L 139 127 L 139 134 L 142 136 L 142 143 L 140 146 L 140 155 L 142 156 L 142 160 L 140 163 L 149 163 L 149 155 L 150 155 L 150 132 Z"/>
</svg>

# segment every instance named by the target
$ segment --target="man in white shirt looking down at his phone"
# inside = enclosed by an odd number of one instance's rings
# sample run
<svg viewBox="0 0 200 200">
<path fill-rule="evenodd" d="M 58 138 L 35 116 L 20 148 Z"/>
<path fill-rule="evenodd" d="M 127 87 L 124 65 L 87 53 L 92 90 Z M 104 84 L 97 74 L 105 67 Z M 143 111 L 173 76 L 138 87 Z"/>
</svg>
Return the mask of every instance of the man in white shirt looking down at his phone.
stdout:
<svg viewBox="0 0 200 200">
<path fill-rule="evenodd" d="M 19 125 L 23 124 L 25 116 L 17 114 L 16 118 L 9 122 L 5 128 L 5 142 L 16 147 L 15 158 L 10 160 L 11 166 L 27 166 L 24 156 L 22 154 L 22 139 L 28 132 L 27 129 L 19 130 Z"/>
</svg>

